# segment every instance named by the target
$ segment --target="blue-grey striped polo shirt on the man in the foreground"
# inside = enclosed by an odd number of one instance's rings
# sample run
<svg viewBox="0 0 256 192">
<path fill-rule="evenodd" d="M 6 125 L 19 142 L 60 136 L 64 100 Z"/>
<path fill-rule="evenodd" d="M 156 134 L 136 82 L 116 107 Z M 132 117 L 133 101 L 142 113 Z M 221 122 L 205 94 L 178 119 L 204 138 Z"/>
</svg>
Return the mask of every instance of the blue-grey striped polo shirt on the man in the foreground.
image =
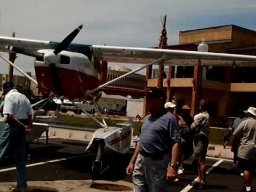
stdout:
<svg viewBox="0 0 256 192">
<path fill-rule="evenodd" d="M 141 127 L 140 151 L 147 153 L 171 152 L 175 142 L 180 142 L 176 117 L 169 111 L 161 111 L 145 117 Z"/>
</svg>

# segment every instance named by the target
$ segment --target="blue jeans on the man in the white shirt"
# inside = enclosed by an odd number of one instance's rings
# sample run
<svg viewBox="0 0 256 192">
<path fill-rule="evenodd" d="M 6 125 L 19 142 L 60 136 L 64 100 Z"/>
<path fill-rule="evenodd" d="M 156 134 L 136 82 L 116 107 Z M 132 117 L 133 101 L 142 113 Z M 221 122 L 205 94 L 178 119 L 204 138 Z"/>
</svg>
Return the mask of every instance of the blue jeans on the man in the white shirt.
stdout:
<svg viewBox="0 0 256 192">
<path fill-rule="evenodd" d="M 27 187 L 26 175 L 26 136 L 21 127 L 5 123 L 0 133 L 0 161 L 9 153 L 14 152 L 17 168 L 17 188 Z"/>
</svg>

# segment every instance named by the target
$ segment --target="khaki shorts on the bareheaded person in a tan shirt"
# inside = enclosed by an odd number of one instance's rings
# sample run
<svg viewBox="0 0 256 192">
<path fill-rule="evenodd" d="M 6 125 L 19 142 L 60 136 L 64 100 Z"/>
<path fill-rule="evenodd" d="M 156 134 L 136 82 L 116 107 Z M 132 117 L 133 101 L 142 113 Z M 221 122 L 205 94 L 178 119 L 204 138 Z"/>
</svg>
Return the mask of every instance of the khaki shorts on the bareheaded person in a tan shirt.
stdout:
<svg viewBox="0 0 256 192">
<path fill-rule="evenodd" d="M 195 139 L 194 139 L 194 161 L 197 161 L 197 160 L 205 161 L 208 145 L 209 145 L 208 138 L 206 138 L 204 136 L 195 137 Z"/>
</svg>

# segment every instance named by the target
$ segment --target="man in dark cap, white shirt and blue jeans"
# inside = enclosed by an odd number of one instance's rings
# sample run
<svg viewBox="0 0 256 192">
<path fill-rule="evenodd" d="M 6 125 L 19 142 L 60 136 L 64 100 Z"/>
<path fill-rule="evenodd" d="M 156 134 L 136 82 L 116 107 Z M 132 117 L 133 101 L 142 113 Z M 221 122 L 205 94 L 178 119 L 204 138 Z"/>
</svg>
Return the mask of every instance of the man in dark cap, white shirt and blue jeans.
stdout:
<svg viewBox="0 0 256 192">
<path fill-rule="evenodd" d="M 25 95 L 14 89 L 12 82 L 3 84 L 5 127 L 0 134 L 0 160 L 9 150 L 14 151 L 17 186 L 13 192 L 26 192 L 26 134 L 30 132 L 33 109 Z"/>
</svg>

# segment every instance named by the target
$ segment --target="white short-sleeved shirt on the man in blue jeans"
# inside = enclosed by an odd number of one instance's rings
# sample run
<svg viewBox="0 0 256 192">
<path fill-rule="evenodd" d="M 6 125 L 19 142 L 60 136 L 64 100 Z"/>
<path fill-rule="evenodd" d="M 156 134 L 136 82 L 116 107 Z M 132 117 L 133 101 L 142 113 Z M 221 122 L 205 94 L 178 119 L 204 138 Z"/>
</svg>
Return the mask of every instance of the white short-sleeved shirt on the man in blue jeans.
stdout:
<svg viewBox="0 0 256 192">
<path fill-rule="evenodd" d="M 27 119 L 34 113 L 28 98 L 17 90 L 10 90 L 4 98 L 3 114 L 12 114 L 17 119 Z"/>
</svg>

